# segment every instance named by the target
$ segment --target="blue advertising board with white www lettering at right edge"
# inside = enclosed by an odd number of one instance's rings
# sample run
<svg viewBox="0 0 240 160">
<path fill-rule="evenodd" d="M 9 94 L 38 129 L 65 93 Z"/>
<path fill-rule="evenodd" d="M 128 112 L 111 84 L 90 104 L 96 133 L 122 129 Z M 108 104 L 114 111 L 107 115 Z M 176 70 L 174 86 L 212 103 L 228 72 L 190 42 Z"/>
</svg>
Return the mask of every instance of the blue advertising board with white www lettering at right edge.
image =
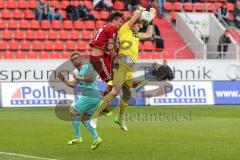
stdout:
<svg viewBox="0 0 240 160">
<path fill-rule="evenodd" d="M 240 104 L 240 82 L 214 82 L 215 104 Z"/>
</svg>

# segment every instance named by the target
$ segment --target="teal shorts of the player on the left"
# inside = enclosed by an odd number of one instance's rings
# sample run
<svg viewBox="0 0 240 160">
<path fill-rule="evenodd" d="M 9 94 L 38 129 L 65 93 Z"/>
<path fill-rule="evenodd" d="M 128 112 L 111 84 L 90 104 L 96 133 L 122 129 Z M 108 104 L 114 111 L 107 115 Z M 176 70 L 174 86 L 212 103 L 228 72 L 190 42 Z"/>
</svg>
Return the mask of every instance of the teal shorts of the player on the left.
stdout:
<svg viewBox="0 0 240 160">
<path fill-rule="evenodd" d="M 93 115 L 100 102 L 100 99 L 82 96 L 71 107 L 79 113 Z"/>
</svg>

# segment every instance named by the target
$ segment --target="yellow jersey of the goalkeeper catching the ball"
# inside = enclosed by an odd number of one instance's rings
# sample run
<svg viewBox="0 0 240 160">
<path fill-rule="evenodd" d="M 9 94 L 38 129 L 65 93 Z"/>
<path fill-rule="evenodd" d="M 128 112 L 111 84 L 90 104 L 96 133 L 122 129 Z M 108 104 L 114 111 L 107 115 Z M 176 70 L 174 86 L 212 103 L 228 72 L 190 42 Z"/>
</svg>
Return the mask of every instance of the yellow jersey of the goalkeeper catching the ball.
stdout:
<svg viewBox="0 0 240 160">
<path fill-rule="evenodd" d="M 119 56 L 127 56 L 134 63 L 138 60 L 138 35 L 133 33 L 128 23 L 125 23 L 118 31 Z"/>
</svg>

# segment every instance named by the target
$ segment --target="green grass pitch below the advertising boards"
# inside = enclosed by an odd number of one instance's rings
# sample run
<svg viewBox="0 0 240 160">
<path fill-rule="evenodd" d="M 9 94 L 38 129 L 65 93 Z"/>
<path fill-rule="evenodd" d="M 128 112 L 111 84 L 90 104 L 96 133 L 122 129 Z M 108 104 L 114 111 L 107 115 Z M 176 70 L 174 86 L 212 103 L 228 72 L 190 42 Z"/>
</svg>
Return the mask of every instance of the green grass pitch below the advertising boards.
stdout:
<svg viewBox="0 0 240 160">
<path fill-rule="evenodd" d="M 84 126 L 83 143 L 66 144 L 73 136 L 71 123 L 59 120 L 53 108 L 2 108 L 0 152 L 59 160 L 240 159 L 240 107 L 193 106 L 191 117 L 190 107 L 129 108 L 128 133 L 113 123 L 116 109 L 112 117 L 98 119 L 103 143 L 94 151 Z M 149 118 L 160 113 L 165 118 Z M 28 159 L 0 154 L 0 160 Z"/>
</svg>

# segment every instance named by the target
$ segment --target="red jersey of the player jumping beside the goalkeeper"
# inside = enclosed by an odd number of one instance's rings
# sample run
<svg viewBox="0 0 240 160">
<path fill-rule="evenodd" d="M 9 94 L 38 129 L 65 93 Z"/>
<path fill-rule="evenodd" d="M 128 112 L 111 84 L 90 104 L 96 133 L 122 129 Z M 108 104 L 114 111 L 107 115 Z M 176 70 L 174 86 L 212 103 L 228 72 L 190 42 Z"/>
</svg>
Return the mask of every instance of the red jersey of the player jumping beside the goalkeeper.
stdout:
<svg viewBox="0 0 240 160">
<path fill-rule="evenodd" d="M 108 23 L 99 28 L 95 34 L 94 40 L 90 43 L 91 47 L 97 47 L 105 50 L 109 39 L 117 38 L 118 29 L 112 23 Z"/>
</svg>

